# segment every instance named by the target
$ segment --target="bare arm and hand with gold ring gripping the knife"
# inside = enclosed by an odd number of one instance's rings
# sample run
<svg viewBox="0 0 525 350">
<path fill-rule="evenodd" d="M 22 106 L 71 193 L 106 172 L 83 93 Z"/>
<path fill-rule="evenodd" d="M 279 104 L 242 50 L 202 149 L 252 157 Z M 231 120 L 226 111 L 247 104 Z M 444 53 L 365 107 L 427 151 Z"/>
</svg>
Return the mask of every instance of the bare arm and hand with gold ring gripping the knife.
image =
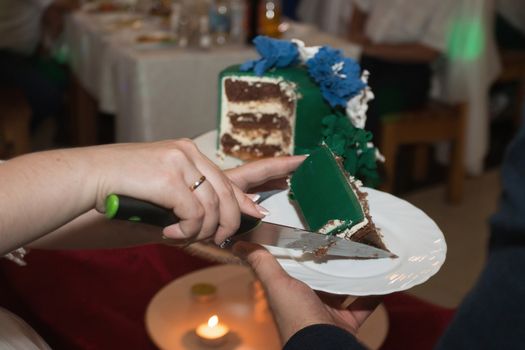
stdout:
<svg viewBox="0 0 525 350">
<path fill-rule="evenodd" d="M 189 140 L 39 152 L 0 164 L 0 255 L 92 209 L 104 212 L 111 193 L 173 208 L 181 221 L 162 232 L 175 239 L 219 243 L 235 232 L 241 211 L 264 216 Z"/>
</svg>

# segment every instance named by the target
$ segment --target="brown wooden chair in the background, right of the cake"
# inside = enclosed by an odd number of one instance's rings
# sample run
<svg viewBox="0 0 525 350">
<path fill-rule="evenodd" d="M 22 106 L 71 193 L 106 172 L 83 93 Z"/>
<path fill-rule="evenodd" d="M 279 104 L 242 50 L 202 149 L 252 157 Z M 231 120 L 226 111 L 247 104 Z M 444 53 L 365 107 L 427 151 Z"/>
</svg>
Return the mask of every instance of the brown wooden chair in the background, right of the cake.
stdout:
<svg viewBox="0 0 525 350">
<path fill-rule="evenodd" d="M 385 116 L 381 130 L 381 152 L 385 156 L 386 181 L 381 189 L 394 191 L 396 155 L 401 145 L 418 145 L 415 156 L 415 175 L 426 169 L 425 151 L 428 145 L 451 141 L 447 198 L 461 201 L 465 176 L 463 154 L 465 147 L 466 104 L 446 105 L 429 102 L 420 110 Z"/>
</svg>

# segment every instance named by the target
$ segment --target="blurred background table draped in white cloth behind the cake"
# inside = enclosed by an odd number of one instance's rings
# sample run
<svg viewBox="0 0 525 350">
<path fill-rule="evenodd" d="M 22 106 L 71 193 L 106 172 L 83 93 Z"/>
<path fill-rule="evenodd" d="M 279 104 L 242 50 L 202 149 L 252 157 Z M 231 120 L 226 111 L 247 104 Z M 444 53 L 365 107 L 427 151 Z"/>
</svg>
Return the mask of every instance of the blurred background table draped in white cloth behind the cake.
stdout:
<svg viewBox="0 0 525 350">
<path fill-rule="evenodd" d="M 176 43 L 139 43 L 137 38 L 168 33 L 160 17 L 132 13 L 72 14 L 66 24 L 71 68 L 98 109 L 116 116 L 116 141 L 153 141 L 194 137 L 216 128 L 218 74 L 232 64 L 254 59 L 250 46 L 225 45 L 208 50 L 180 48 Z M 349 57 L 359 47 L 311 26 L 288 24 L 285 38 L 307 45 L 330 45 Z M 77 129 L 83 144 L 96 143 L 92 113 L 84 105 Z M 77 109 L 78 110 L 78 109 Z M 86 135 L 88 134 L 88 135 Z"/>
</svg>

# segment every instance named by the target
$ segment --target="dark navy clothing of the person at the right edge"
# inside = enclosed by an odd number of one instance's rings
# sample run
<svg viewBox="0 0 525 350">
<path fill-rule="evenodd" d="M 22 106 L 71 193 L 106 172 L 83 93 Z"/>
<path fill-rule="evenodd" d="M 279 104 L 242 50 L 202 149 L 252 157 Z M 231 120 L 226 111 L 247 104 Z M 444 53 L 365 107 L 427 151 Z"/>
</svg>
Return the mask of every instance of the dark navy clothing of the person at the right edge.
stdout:
<svg viewBox="0 0 525 350">
<path fill-rule="evenodd" d="M 439 349 L 518 349 L 525 344 L 525 129 L 506 153 L 491 218 L 487 263 Z"/>
</svg>

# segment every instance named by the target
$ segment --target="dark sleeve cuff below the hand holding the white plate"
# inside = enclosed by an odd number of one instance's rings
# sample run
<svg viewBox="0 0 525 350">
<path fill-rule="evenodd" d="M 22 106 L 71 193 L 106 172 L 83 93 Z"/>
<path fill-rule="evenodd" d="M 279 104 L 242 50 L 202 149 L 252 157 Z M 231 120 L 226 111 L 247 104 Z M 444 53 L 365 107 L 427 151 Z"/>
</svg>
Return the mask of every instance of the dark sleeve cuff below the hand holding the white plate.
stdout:
<svg viewBox="0 0 525 350">
<path fill-rule="evenodd" d="M 295 333 L 283 350 L 353 350 L 365 349 L 357 339 L 342 328 L 315 324 Z"/>
</svg>

